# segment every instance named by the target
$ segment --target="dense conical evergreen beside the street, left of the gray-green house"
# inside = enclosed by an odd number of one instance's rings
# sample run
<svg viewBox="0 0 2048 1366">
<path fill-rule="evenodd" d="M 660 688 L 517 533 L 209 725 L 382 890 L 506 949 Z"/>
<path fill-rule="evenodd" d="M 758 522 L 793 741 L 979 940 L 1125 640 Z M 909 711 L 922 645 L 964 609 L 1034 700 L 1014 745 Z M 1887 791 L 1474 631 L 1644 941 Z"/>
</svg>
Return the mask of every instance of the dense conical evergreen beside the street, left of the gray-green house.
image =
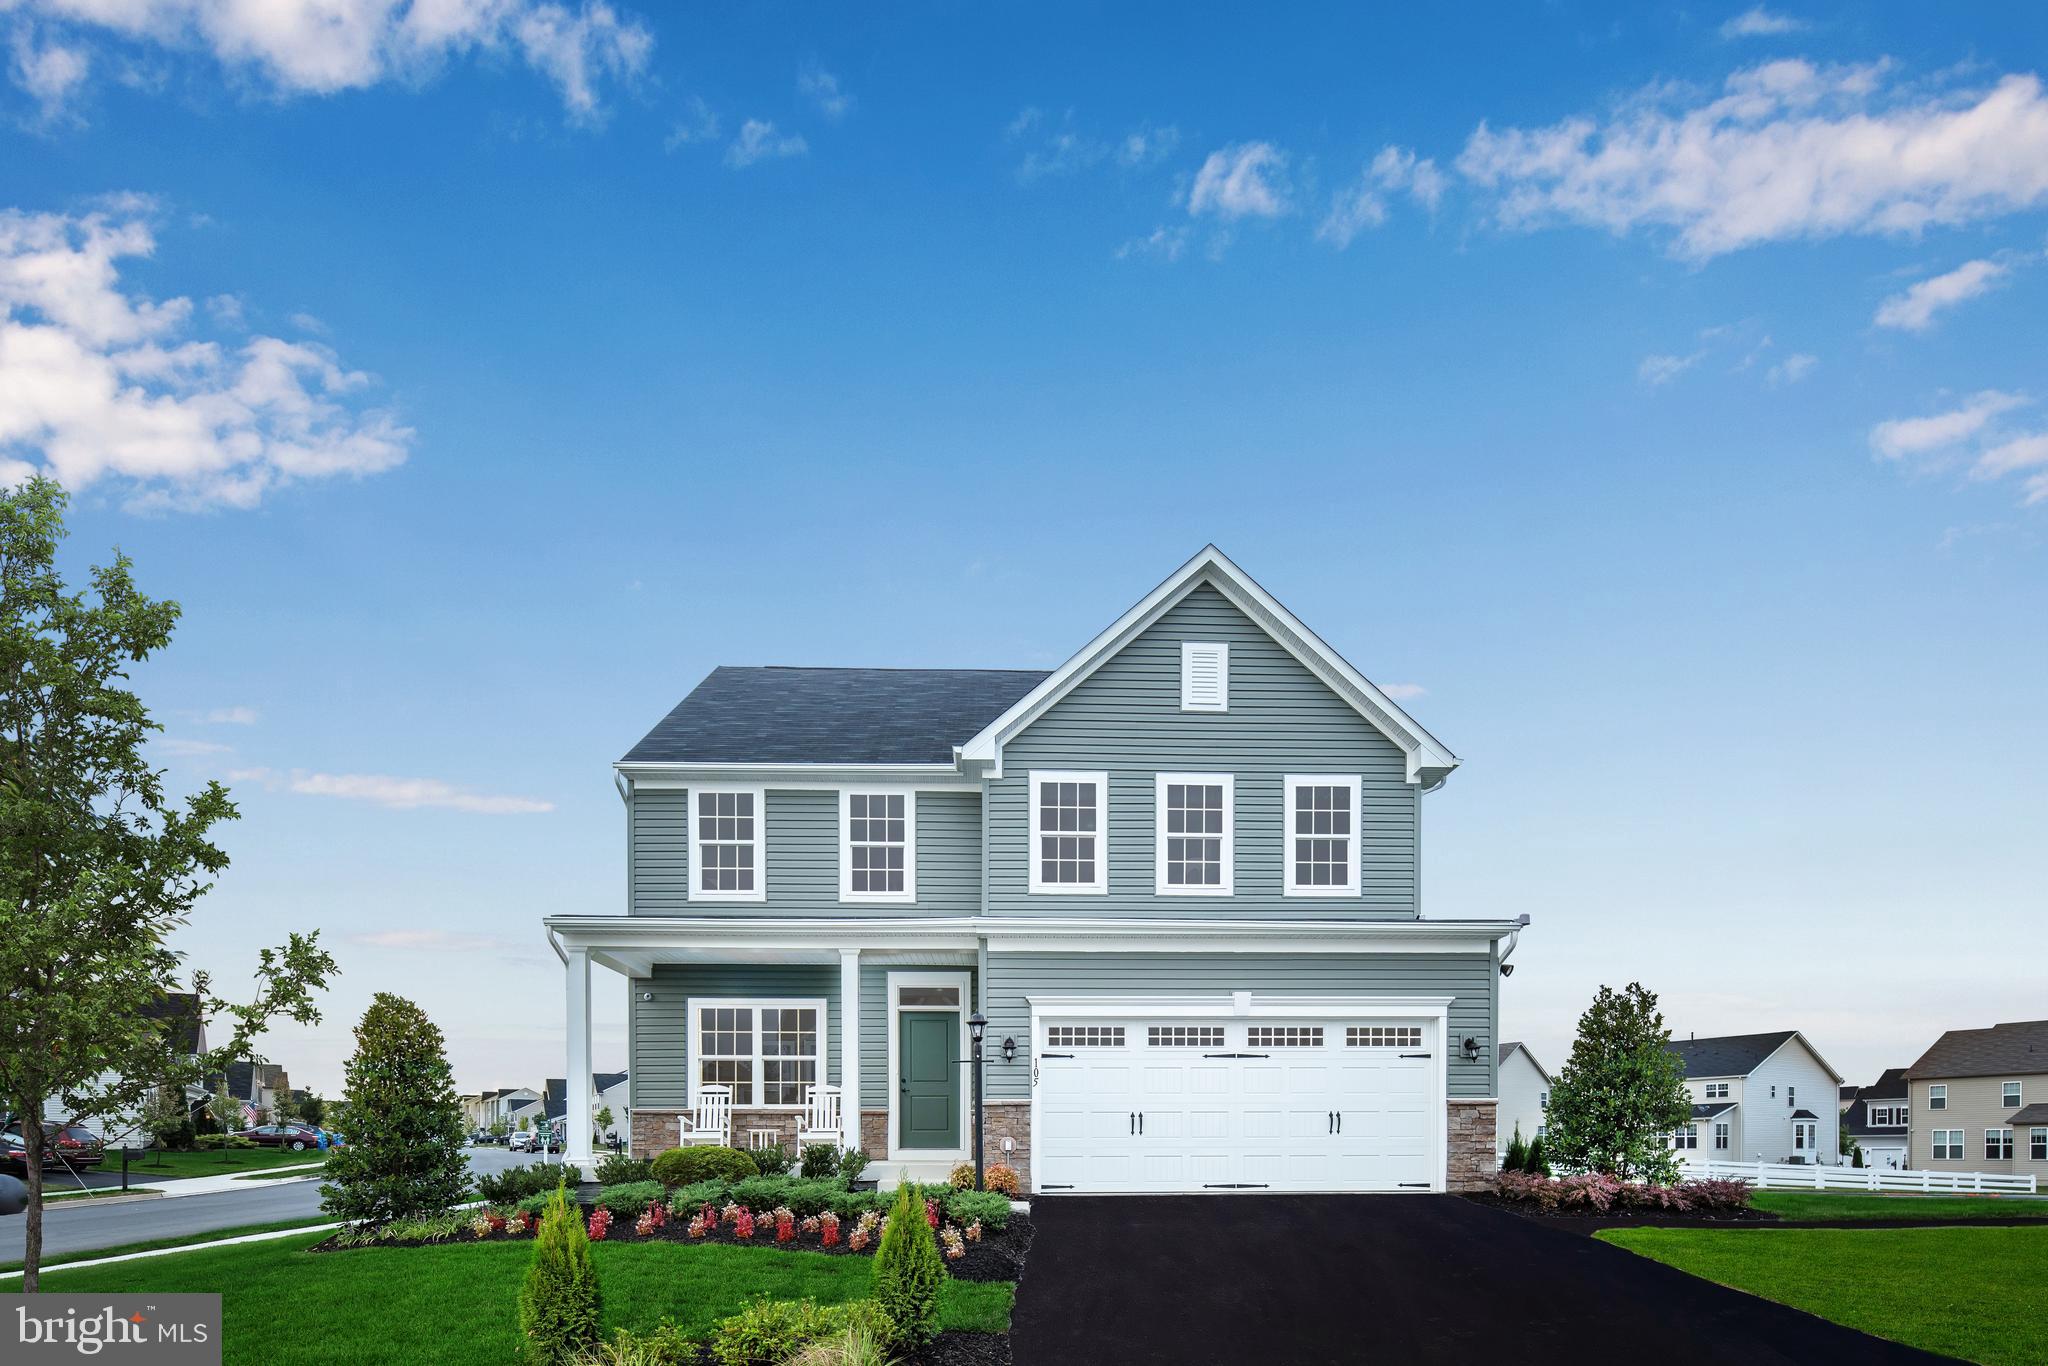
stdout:
<svg viewBox="0 0 2048 1366">
<path fill-rule="evenodd" d="M 379 991 L 356 1024 L 340 1114 L 348 1143 L 328 1153 L 319 1204 L 348 1223 L 438 1214 L 469 1188 L 463 1108 L 440 1028 Z"/>
</svg>

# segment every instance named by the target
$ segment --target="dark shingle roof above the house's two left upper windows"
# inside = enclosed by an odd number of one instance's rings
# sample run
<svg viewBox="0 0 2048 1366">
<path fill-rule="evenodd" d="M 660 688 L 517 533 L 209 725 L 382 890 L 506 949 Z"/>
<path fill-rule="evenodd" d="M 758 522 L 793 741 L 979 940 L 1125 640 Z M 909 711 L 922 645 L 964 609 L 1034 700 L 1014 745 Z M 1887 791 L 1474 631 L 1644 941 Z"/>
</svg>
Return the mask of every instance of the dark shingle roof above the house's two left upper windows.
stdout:
<svg viewBox="0 0 2048 1366">
<path fill-rule="evenodd" d="M 625 764 L 946 764 L 1044 670 L 711 670 Z"/>
</svg>

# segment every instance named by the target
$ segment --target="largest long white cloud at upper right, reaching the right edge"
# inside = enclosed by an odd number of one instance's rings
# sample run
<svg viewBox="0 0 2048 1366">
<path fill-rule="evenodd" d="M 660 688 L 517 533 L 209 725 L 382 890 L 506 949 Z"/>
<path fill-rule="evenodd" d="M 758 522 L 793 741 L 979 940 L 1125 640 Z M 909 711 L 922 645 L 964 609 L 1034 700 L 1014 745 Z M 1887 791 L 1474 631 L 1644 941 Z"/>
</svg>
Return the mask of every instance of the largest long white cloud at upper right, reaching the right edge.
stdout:
<svg viewBox="0 0 2048 1366">
<path fill-rule="evenodd" d="M 1458 170 L 1497 190 L 1507 227 L 1671 229 L 1706 260 L 1759 242 L 1913 233 L 2048 201 L 2038 76 L 1989 90 L 1890 86 L 1888 63 L 1769 61 L 1688 102 L 1640 92 L 1604 121 L 1481 123 Z"/>
</svg>

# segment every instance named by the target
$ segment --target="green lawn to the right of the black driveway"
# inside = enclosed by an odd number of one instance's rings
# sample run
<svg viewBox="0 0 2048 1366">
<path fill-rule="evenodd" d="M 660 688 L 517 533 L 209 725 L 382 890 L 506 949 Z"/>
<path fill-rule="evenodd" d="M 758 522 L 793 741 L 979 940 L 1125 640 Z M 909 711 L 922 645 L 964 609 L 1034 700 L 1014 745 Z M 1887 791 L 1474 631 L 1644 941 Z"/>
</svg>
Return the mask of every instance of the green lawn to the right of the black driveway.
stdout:
<svg viewBox="0 0 2048 1366">
<path fill-rule="evenodd" d="M 1597 1237 L 1927 1352 L 1991 1366 L 2048 1362 L 2048 1227 L 1608 1229 Z"/>
</svg>

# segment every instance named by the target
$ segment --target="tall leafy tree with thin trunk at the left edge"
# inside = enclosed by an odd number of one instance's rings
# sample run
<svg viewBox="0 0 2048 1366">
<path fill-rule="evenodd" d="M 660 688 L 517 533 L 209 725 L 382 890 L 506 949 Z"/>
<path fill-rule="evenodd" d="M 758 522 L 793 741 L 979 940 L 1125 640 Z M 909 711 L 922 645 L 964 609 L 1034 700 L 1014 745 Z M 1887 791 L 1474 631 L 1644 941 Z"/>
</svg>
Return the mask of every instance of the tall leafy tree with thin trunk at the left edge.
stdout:
<svg viewBox="0 0 2048 1366">
<path fill-rule="evenodd" d="M 57 571 L 68 502 L 41 475 L 0 487 L 0 1104 L 104 1124 L 156 1087 L 254 1057 L 274 1018 L 317 1022 L 313 993 L 334 958 L 317 934 L 264 948 L 246 1006 L 211 1001 L 205 973 L 178 981 L 170 936 L 227 868 L 213 829 L 236 807 L 219 782 L 178 801 L 150 764 L 145 743 L 162 727 L 125 684 L 170 645 L 180 608 L 145 596 L 119 553 L 90 571 L 90 588 L 68 588 Z M 160 1010 L 180 989 L 201 997 L 215 1038 L 227 1034 L 205 1055 L 182 1051 Z M 23 1290 L 33 1292 L 43 1126 L 25 1124 L 23 1141 Z"/>
</svg>

